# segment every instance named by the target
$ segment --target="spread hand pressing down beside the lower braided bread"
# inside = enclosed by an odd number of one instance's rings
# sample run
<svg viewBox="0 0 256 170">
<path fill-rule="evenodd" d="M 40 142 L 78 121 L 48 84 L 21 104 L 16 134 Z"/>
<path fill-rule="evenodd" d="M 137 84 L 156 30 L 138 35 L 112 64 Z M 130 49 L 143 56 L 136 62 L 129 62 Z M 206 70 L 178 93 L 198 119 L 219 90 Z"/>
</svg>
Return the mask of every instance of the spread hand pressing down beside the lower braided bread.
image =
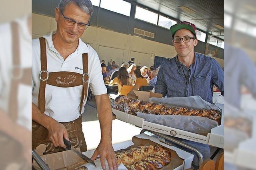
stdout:
<svg viewBox="0 0 256 170">
<path fill-rule="evenodd" d="M 97 156 L 100 155 L 100 162 L 102 169 L 106 169 L 105 158 L 108 161 L 108 167 L 110 170 L 116 170 L 118 168 L 118 162 L 116 160 L 116 154 L 114 153 L 114 149 L 112 147 L 111 142 L 105 143 L 100 142 L 94 154 L 92 155 L 92 160 L 95 160 Z"/>
</svg>

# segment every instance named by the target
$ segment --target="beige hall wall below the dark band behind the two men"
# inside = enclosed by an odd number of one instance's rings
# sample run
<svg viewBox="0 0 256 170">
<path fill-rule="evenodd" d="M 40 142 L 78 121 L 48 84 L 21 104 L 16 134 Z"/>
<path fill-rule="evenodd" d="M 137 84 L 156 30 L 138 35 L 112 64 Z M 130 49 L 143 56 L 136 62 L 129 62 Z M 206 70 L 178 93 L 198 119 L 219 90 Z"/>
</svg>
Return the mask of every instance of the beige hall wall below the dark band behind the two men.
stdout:
<svg viewBox="0 0 256 170">
<path fill-rule="evenodd" d="M 56 30 L 55 18 L 32 14 L 32 39 Z M 90 26 L 81 39 L 90 44 L 98 53 L 100 61 L 115 61 L 116 64 L 128 62 L 133 57 L 140 65 L 154 65 L 154 57 L 172 58 L 177 53 L 173 46 L 150 41 L 141 37 L 126 35 L 115 31 Z M 216 59 L 222 67 L 224 60 Z"/>
</svg>

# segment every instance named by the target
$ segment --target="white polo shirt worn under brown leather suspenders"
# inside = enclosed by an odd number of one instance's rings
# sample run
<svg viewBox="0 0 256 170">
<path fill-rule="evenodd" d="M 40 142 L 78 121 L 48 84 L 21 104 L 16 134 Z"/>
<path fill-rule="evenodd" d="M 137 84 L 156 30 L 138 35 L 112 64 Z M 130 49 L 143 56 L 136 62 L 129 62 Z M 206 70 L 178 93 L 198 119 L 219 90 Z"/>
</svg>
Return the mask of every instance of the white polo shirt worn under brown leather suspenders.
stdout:
<svg viewBox="0 0 256 170">
<path fill-rule="evenodd" d="M 44 35 L 46 39 L 46 56 L 47 56 L 47 70 L 48 72 L 56 71 L 70 71 L 83 74 L 82 54 L 88 53 L 88 86 L 92 90 L 92 94 L 101 95 L 106 94 L 107 89 L 104 85 L 103 76 L 101 72 L 100 59 L 98 54 L 90 45 L 86 45 L 79 39 L 79 44 L 71 55 L 66 60 L 54 48 L 52 42 L 52 32 L 50 35 Z M 32 40 L 32 102 L 37 106 L 41 70 L 40 64 L 40 43 L 39 39 Z M 62 88 L 46 84 L 45 89 L 45 114 L 52 117 L 58 122 L 68 122 L 79 117 L 80 100 L 82 94 L 82 85 Z M 84 105 L 86 104 L 84 99 Z M 84 112 L 84 106 L 82 113 Z"/>
</svg>

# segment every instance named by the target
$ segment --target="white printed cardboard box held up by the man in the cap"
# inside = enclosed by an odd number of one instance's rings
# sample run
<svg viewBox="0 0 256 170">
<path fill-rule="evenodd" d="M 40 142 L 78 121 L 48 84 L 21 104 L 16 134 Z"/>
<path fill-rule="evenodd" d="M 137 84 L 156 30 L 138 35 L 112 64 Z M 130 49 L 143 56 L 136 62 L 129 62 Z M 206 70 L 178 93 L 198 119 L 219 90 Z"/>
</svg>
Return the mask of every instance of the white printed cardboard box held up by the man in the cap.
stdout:
<svg viewBox="0 0 256 170">
<path fill-rule="evenodd" d="M 166 135 L 172 135 L 178 138 L 187 139 L 190 141 L 195 141 L 198 143 L 208 144 L 211 146 L 224 148 L 224 105 L 219 105 L 222 109 L 222 120 L 221 125 L 218 127 L 212 128 L 211 132 L 208 134 L 196 134 L 188 131 L 183 131 L 180 129 L 167 127 L 164 125 L 159 125 L 156 123 L 151 123 L 144 121 L 143 118 L 124 113 L 122 111 L 112 109 L 112 112 L 116 115 L 116 119 L 125 121 L 127 123 L 142 127 L 143 129 L 152 130 L 158 133 L 163 133 Z"/>
</svg>

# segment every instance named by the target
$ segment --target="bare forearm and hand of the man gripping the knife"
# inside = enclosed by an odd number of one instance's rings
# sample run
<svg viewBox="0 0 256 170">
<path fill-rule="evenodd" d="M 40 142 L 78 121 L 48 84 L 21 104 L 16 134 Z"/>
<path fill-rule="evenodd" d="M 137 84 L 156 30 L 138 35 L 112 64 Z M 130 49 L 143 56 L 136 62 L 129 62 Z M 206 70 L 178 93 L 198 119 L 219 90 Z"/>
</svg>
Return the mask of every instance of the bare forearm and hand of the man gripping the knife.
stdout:
<svg viewBox="0 0 256 170">
<path fill-rule="evenodd" d="M 52 119 L 46 114 L 42 114 L 38 107 L 32 102 L 32 120 L 36 121 L 40 125 L 44 126 L 49 131 L 49 139 L 52 141 L 54 147 L 63 147 L 66 148 L 66 145 L 63 142 L 63 137 L 68 139 L 68 131 L 58 121 Z"/>
</svg>

